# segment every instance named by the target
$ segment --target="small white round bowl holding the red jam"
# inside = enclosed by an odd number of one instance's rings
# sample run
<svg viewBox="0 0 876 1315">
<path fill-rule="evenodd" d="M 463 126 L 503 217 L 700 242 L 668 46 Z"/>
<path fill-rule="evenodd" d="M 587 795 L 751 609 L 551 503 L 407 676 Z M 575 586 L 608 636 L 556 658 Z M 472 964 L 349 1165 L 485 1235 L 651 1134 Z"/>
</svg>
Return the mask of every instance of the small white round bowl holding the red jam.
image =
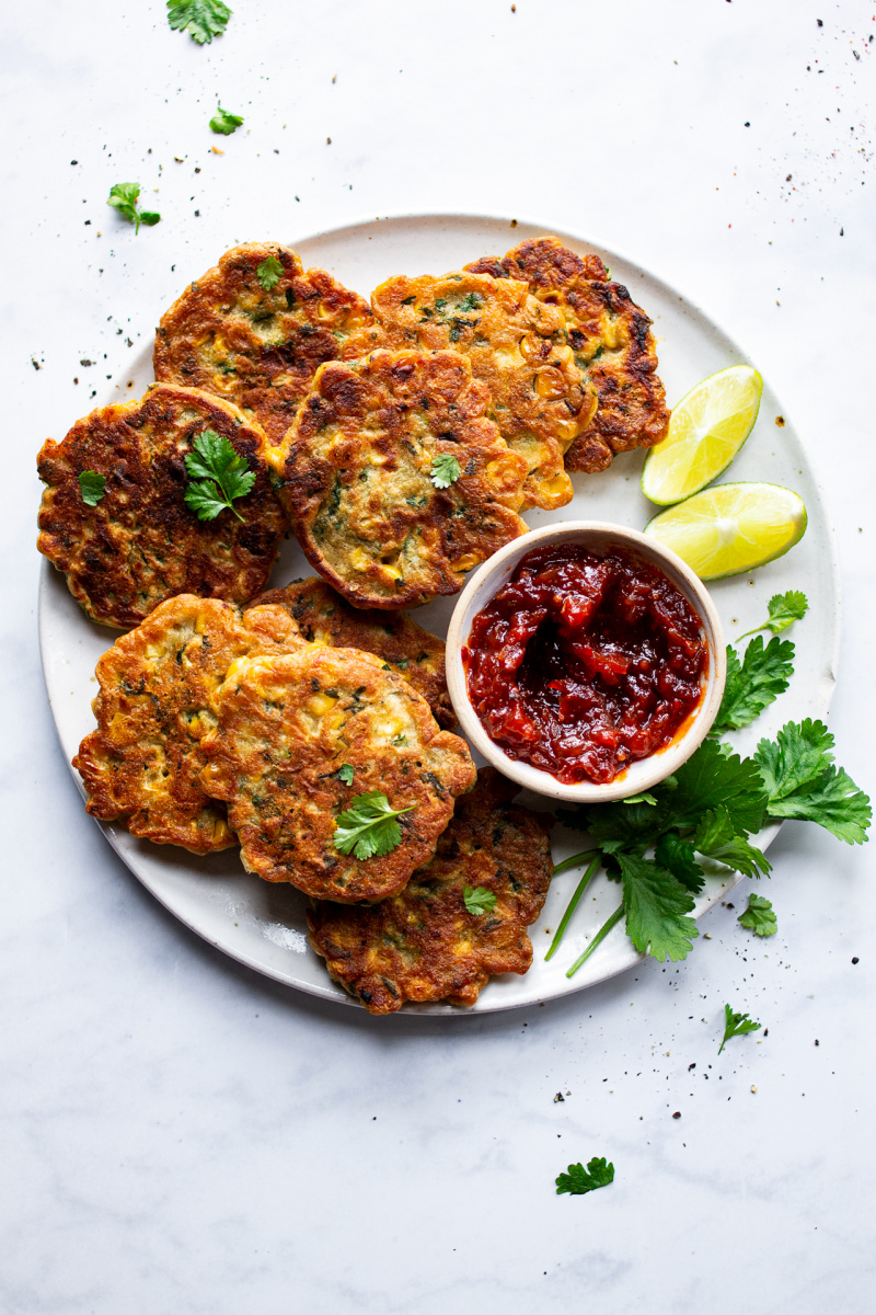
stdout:
<svg viewBox="0 0 876 1315">
<path fill-rule="evenodd" d="M 521 558 L 532 552 L 533 548 L 557 543 L 580 543 L 598 554 L 621 548 L 658 567 L 684 594 L 699 615 L 708 643 L 709 665 L 705 689 L 682 732 L 665 748 L 632 763 L 620 777 L 607 785 L 598 785 L 594 781 L 563 785 L 550 772 L 544 772 L 531 763 L 508 757 L 504 750 L 490 739 L 469 702 L 462 648 L 469 642 L 475 615 L 486 608 L 511 577 Z M 646 538 L 637 530 L 626 530 L 624 526 L 609 525 L 604 521 L 570 521 L 562 526 L 548 525 L 507 543 L 504 548 L 489 558 L 468 581 L 453 610 L 447 634 L 448 689 L 460 725 L 474 748 L 503 776 L 519 785 L 535 790 L 537 794 L 546 794 L 554 800 L 570 800 L 574 803 L 607 803 L 609 800 L 623 800 L 630 794 L 640 794 L 671 776 L 708 735 L 721 706 L 725 680 L 724 633 L 714 604 L 703 581 L 675 552 L 665 548 L 655 539 Z"/>
</svg>

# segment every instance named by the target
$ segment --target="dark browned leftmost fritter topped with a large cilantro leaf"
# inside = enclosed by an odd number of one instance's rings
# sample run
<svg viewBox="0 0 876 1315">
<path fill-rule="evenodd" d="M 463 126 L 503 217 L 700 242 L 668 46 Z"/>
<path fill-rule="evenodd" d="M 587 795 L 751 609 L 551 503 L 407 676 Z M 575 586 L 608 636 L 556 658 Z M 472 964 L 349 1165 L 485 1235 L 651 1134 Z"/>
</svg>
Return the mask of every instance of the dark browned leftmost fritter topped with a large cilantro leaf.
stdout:
<svg viewBox="0 0 876 1315">
<path fill-rule="evenodd" d="M 198 521 L 185 504 L 184 458 L 205 430 L 227 438 L 256 472 L 252 490 L 214 521 Z M 120 630 L 177 593 L 248 602 L 268 583 L 288 529 L 263 430 L 193 388 L 154 384 L 139 401 L 92 412 L 62 443 L 47 439 L 38 471 L 49 488 L 37 547 L 88 615 Z M 84 471 L 106 477 L 96 506 L 83 500 Z"/>
</svg>

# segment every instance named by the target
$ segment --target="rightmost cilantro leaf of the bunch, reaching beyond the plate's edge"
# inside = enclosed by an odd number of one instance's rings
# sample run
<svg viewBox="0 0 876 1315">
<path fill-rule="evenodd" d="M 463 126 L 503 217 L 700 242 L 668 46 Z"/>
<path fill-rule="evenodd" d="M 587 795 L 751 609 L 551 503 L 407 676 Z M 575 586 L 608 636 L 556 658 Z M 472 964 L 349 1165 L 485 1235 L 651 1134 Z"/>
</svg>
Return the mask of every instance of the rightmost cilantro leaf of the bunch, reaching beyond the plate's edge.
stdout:
<svg viewBox="0 0 876 1315">
<path fill-rule="evenodd" d="M 767 813 L 774 818 L 817 822 L 847 844 L 863 844 L 872 821 L 868 797 L 834 765 L 834 738 L 823 722 L 806 718 L 787 722 L 775 740 L 758 744 L 768 793 Z"/>
</svg>

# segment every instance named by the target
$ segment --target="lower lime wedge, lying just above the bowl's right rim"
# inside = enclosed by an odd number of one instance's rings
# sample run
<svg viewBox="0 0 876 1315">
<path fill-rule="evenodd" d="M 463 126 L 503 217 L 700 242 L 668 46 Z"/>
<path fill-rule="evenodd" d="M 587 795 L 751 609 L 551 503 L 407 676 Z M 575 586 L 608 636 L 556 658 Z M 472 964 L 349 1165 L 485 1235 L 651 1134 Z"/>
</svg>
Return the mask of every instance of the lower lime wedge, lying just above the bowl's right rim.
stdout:
<svg viewBox="0 0 876 1315">
<path fill-rule="evenodd" d="M 779 484 L 718 484 L 645 526 L 701 580 L 741 575 L 780 558 L 806 530 L 802 498 Z"/>
</svg>

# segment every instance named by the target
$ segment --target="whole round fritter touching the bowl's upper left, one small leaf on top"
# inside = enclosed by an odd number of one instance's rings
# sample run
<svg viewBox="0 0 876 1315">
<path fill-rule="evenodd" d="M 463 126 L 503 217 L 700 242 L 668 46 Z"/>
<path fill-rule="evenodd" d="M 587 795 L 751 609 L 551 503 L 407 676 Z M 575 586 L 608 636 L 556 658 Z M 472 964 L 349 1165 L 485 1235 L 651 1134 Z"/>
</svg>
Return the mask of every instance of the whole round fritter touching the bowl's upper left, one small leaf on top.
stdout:
<svg viewBox="0 0 876 1315">
<path fill-rule="evenodd" d="M 277 460 L 280 497 L 307 559 L 355 606 L 456 593 L 527 531 L 527 464 L 487 401 L 454 351 L 373 351 L 318 372 Z M 443 462 L 457 473 L 447 488 Z"/>
</svg>

